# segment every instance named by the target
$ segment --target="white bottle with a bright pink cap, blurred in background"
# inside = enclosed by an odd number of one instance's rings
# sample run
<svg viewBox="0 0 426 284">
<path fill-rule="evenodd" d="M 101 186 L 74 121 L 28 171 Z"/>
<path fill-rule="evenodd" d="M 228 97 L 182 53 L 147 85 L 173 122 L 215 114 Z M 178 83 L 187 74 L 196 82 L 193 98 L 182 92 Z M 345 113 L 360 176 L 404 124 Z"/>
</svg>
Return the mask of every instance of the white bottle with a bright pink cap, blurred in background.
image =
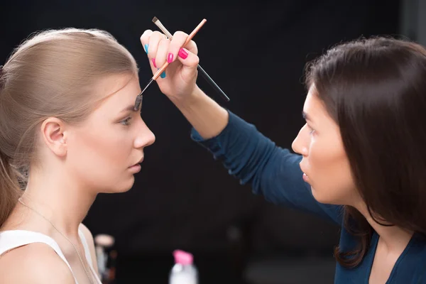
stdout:
<svg viewBox="0 0 426 284">
<path fill-rule="evenodd" d="M 173 251 L 175 266 L 170 271 L 169 284 L 198 284 L 198 271 L 191 253 Z"/>
</svg>

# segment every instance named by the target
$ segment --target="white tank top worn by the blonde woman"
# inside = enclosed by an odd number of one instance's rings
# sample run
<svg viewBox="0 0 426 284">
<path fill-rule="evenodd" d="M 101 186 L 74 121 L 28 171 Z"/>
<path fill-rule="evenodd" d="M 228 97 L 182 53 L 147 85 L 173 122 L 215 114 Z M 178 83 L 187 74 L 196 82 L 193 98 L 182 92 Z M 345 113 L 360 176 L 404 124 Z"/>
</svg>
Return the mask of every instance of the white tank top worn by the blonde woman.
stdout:
<svg viewBox="0 0 426 284">
<path fill-rule="evenodd" d="M 90 256 L 89 246 L 87 245 L 86 238 L 84 237 L 84 234 L 82 231 L 78 230 L 78 234 L 80 236 L 80 239 L 82 240 L 82 244 L 84 246 L 84 255 L 86 256 L 87 262 L 89 263 L 90 270 L 92 271 L 93 275 L 95 275 L 95 283 L 102 284 L 101 280 L 99 280 L 97 273 L 94 271 L 93 265 L 92 265 L 92 257 Z M 11 230 L 11 231 L 1 231 L 0 232 L 0 256 L 7 251 L 10 251 L 11 249 L 16 249 L 19 246 L 25 246 L 27 244 L 33 244 L 33 243 L 43 243 L 50 246 L 56 253 L 58 253 L 58 256 L 62 258 L 62 261 L 65 261 L 67 263 L 68 268 L 70 268 L 70 271 L 72 273 L 72 269 L 70 266 L 70 263 L 68 263 L 67 259 L 65 258 L 64 254 L 60 250 L 60 247 L 56 243 L 54 239 L 52 239 L 50 236 L 46 236 L 45 234 L 41 234 L 35 231 L 26 231 L 26 230 Z M 75 284 L 78 284 L 77 278 L 75 278 L 74 273 L 72 273 L 72 276 L 74 276 Z"/>
</svg>

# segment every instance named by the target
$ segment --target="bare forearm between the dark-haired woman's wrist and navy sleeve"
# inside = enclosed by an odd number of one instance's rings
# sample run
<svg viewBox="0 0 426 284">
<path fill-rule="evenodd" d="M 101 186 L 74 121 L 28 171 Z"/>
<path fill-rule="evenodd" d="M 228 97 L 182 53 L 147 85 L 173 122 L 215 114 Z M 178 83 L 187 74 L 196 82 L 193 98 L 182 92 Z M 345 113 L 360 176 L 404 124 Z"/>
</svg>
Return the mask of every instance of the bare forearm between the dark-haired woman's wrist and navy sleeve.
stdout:
<svg viewBox="0 0 426 284">
<path fill-rule="evenodd" d="M 219 135 L 228 124 L 228 111 L 197 86 L 190 97 L 171 100 L 204 139 Z"/>
</svg>

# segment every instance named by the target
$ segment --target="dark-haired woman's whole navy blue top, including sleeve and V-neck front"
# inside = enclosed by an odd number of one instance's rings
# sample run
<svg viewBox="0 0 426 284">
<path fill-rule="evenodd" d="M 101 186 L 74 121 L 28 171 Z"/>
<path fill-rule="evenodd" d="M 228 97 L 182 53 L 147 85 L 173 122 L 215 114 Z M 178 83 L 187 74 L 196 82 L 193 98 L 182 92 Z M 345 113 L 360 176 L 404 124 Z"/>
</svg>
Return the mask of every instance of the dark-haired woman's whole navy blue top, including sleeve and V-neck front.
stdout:
<svg viewBox="0 0 426 284">
<path fill-rule="evenodd" d="M 301 155 L 275 143 L 229 111 L 229 122 L 218 136 L 204 140 L 195 129 L 191 138 L 207 148 L 215 159 L 222 160 L 230 175 L 239 178 L 241 185 L 249 182 L 253 193 L 266 200 L 316 214 L 342 226 L 340 248 L 351 251 L 357 244 L 343 226 L 343 207 L 321 204 L 312 196 L 310 185 L 302 179 Z M 356 268 L 344 268 L 337 263 L 334 283 L 368 283 L 378 234 L 374 232 L 371 246 Z M 426 283 L 426 244 L 413 236 L 393 267 L 388 284 Z"/>
</svg>

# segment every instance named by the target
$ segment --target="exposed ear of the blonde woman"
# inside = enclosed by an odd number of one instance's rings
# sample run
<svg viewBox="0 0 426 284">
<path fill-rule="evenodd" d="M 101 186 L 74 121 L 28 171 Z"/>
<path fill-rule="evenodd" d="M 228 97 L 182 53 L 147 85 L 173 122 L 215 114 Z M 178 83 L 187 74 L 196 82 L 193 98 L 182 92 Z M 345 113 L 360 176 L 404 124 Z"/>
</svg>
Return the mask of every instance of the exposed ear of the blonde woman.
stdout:
<svg viewBox="0 0 426 284">
<path fill-rule="evenodd" d="M 40 127 L 46 146 L 60 157 L 67 153 L 65 124 L 60 119 L 50 117 L 45 119 Z"/>
</svg>

